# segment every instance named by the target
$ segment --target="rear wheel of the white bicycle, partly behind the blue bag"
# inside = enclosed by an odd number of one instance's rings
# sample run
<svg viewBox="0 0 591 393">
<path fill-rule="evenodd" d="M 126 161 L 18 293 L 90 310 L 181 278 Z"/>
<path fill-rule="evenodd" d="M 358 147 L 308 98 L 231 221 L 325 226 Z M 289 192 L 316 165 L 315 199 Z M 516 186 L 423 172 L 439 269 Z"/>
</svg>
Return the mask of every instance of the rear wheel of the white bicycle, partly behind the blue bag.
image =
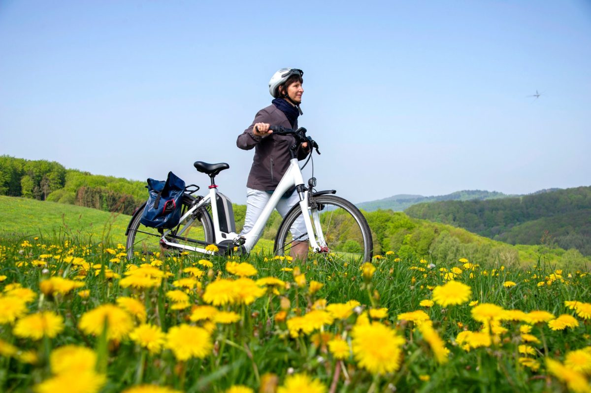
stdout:
<svg viewBox="0 0 591 393">
<path fill-rule="evenodd" d="M 190 209 L 193 202 L 193 197 L 183 197 L 181 217 Z M 209 214 L 209 209 L 209 205 L 200 207 L 193 215 L 189 216 L 183 222 L 179 222 L 178 225 L 171 230 L 170 234 L 175 236 L 182 235 L 181 237 L 184 239 L 175 238 L 174 241 L 190 246 L 197 245 L 196 243 L 191 242 L 191 240 L 214 243 L 213 223 Z M 141 216 L 141 212 L 135 215 L 129 225 L 127 241 L 125 243 L 127 259 L 131 261 L 133 258 L 145 258 L 145 256 L 148 255 L 156 255 L 157 252 L 160 252 L 158 255 L 180 254 L 181 250 L 177 248 L 163 248 L 160 244 L 160 239 L 164 230 L 142 225 L 140 222 Z M 193 217 L 196 218 L 193 219 Z M 185 226 L 187 227 L 184 228 Z M 181 231 L 181 233 L 179 231 Z"/>
</svg>

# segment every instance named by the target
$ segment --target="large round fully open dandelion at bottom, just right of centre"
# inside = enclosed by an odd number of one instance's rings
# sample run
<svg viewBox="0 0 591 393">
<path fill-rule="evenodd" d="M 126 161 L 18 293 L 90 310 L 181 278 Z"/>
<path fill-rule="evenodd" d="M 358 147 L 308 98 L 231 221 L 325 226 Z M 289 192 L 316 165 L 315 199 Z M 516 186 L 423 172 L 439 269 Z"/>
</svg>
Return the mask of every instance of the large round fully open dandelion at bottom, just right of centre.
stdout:
<svg viewBox="0 0 591 393">
<path fill-rule="evenodd" d="M 381 323 L 356 324 L 351 336 L 353 355 L 359 366 L 372 374 L 400 368 L 404 339 Z"/>
</svg>

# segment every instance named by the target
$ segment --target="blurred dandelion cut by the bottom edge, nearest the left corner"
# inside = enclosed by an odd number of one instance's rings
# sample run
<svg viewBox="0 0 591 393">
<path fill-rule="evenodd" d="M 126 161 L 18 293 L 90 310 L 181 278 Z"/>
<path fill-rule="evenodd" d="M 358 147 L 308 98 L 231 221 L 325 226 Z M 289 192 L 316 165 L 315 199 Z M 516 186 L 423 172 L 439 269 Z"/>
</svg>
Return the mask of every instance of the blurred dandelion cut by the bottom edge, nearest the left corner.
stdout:
<svg viewBox="0 0 591 393">
<path fill-rule="evenodd" d="M 96 393 L 106 383 L 106 376 L 95 371 L 64 372 L 34 387 L 36 393 Z"/>
</svg>

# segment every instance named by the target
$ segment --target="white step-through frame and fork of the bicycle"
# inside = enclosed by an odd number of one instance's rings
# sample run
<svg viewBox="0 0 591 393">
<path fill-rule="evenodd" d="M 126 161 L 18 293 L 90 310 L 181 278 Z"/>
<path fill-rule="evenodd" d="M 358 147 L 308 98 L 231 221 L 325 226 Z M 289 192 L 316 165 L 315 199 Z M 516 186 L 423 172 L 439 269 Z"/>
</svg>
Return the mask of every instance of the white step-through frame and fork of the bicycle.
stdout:
<svg viewBox="0 0 591 393">
<path fill-rule="evenodd" d="M 281 196 L 288 189 L 290 189 L 290 187 L 299 186 L 300 184 L 302 184 L 302 185 L 304 184 L 304 178 L 301 174 L 301 170 L 300 170 L 300 166 L 298 165 L 297 158 L 292 158 L 290 160 L 290 167 L 288 168 L 288 170 L 285 172 L 285 174 L 281 178 L 281 181 L 279 182 L 277 188 L 275 189 L 275 191 L 271 195 L 271 199 L 269 199 L 269 201 L 265 205 L 264 209 L 262 210 L 261 215 L 258 217 L 258 219 L 256 219 L 256 222 L 255 222 L 254 226 L 252 227 L 252 229 L 250 230 L 250 232 L 245 233 L 244 235 L 239 235 L 238 233 L 235 233 L 235 232 L 222 232 L 220 230 L 220 223 L 219 223 L 219 218 L 217 215 L 217 213 L 218 213 L 217 212 L 217 203 L 215 203 L 216 195 L 217 195 L 217 186 L 210 187 L 209 194 L 207 196 L 203 197 L 203 199 L 200 200 L 199 203 L 197 203 L 195 206 L 191 207 L 191 209 L 187 210 L 187 212 L 184 213 L 184 215 L 180 218 L 180 222 L 183 223 L 184 220 L 186 220 L 187 217 L 189 217 L 195 210 L 197 210 L 200 207 L 205 206 L 207 203 L 209 203 L 212 207 L 213 231 L 215 233 L 216 241 L 219 243 L 220 241 L 222 241 L 222 239 L 224 241 L 229 240 L 229 241 L 235 242 L 235 244 L 238 245 L 241 238 L 243 238 L 244 239 L 243 246 L 246 249 L 246 252 L 250 252 L 252 250 L 252 248 L 255 246 L 256 242 L 258 242 L 258 239 L 261 237 L 262 231 L 265 228 L 265 224 L 267 224 L 267 220 L 269 219 L 269 217 L 271 216 L 271 213 L 273 212 L 273 210 L 277 206 L 277 203 L 279 202 Z M 304 223 L 306 223 L 306 230 L 308 232 L 310 246 L 314 251 L 320 251 L 323 248 L 326 248 L 326 241 L 324 241 L 322 227 L 320 226 L 319 213 L 316 210 L 312 214 L 312 216 L 313 216 L 312 219 L 310 219 L 310 208 L 308 206 L 309 191 L 304 191 L 304 192 L 301 192 L 298 194 L 300 196 L 301 211 L 308 212 L 308 214 L 303 214 L 303 217 L 304 217 Z M 183 228 L 180 228 L 177 232 L 177 236 L 181 236 L 183 234 L 183 232 L 189 228 L 191 223 L 193 223 L 192 220 L 190 222 L 188 222 L 186 225 L 184 225 Z M 174 247 L 174 248 L 184 249 L 187 251 L 195 251 L 195 252 L 200 252 L 202 254 L 210 254 L 210 255 L 215 254 L 215 252 L 207 251 L 205 248 L 202 248 L 202 247 L 193 247 L 193 246 L 189 246 L 189 245 L 179 244 L 176 242 L 171 242 L 166 238 L 166 236 L 170 232 L 171 232 L 171 230 L 167 230 L 163 233 L 163 236 L 161 238 L 162 243 L 164 243 L 168 246 Z M 314 234 L 316 236 L 314 236 Z"/>
</svg>

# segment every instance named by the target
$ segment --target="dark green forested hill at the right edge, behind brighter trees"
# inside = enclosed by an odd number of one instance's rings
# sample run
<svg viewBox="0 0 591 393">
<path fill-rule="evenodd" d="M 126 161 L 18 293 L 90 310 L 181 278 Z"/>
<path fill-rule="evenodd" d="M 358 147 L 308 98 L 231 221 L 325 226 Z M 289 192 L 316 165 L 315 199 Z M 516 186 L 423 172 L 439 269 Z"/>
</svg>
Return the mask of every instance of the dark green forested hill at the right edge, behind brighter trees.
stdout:
<svg viewBox="0 0 591 393">
<path fill-rule="evenodd" d="M 511 244 L 548 244 L 591 255 L 591 187 L 492 200 L 420 203 L 407 215 Z"/>
</svg>

